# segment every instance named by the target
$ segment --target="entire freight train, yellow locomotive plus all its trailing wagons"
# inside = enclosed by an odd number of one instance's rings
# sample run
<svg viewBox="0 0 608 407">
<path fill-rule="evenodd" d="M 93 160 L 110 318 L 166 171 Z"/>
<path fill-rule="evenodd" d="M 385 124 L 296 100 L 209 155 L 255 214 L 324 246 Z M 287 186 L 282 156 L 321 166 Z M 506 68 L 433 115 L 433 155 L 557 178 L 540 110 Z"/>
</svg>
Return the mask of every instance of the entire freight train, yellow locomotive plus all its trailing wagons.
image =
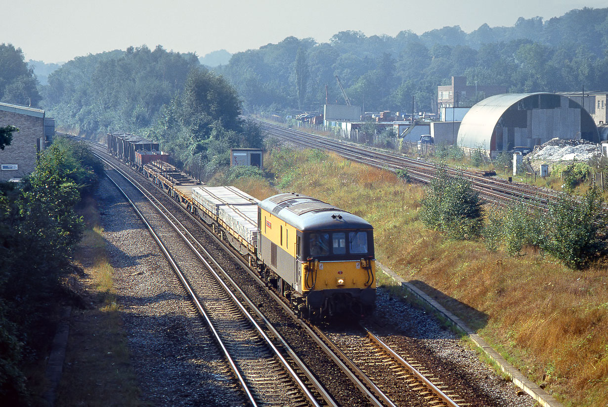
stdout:
<svg viewBox="0 0 608 407">
<path fill-rule="evenodd" d="M 128 141 L 118 153 L 124 136 Z M 370 223 L 297 193 L 259 201 L 232 187 L 208 187 L 168 164 L 141 159 L 145 144 L 131 134 L 108 134 L 108 150 L 136 167 L 170 197 L 198 216 L 249 261 L 261 279 L 302 318 L 352 319 L 369 315 L 376 301 L 376 261 Z M 112 148 L 111 146 L 114 146 Z M 151 145 L 150 148 L 158 146 Z M 153 155 L 148 150 L 146 155 Z"/>
</svg>

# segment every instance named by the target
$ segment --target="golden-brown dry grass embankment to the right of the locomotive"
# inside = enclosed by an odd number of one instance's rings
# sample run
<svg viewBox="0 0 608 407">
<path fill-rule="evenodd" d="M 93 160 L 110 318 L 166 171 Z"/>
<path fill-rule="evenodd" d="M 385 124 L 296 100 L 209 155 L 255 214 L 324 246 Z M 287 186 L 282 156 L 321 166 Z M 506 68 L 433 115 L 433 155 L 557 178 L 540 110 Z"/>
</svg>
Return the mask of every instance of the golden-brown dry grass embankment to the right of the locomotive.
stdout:
<svg viewBox="0 0 608 407">
<path fill-rule="evenodd" d="M 378 260 L 463 319 L 523 374 L 566 405 L 606 406 L 606 265 L 570 270 L 530 248 L 511 257 L 483 242 L 446 238 L 418 219 L 423 187 L 334 155 L 273 153 L 266 164 L 274 178 L 240 187 L 266 198 L 280 186 L 364 217 L 375 228 Z"/>
</svg>

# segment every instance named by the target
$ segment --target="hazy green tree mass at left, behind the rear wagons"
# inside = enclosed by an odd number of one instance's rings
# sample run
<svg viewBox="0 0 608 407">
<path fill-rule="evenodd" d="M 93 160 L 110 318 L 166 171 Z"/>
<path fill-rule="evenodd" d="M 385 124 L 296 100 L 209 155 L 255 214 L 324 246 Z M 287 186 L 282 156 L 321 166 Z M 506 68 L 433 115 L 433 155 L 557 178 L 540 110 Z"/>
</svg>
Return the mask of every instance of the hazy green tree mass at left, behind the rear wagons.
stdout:
<svg viewBox="0 0 608 407">
<path fill-rule="evenodd" d="M 77 57 L 52 72 L 47 85 L 19 97 L 14 89 L 21 82 L 37 83 L 21 49 L 2 44 L 0 68 L 0 100 L 40 102 L 60 128 L 83 136 L 126 132 L 154 139 L 174 164 L 200 177 L 229 165 L 231 147 L 261 147 L 259 128 L 240 117 L 237 91 L 195 54 L 144 45 Z"/>
</svg>

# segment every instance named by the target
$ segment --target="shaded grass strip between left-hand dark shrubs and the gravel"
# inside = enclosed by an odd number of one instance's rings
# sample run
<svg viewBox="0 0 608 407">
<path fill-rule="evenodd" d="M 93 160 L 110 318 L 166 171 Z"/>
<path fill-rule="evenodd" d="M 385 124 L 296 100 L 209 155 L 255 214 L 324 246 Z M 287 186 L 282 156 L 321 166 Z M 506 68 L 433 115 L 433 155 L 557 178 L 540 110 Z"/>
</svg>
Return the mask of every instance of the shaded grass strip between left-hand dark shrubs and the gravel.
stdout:
<svg viewBox="0 0 608 407">
<path fill-rule="evenodd" d="M 140 406 L 139 388 L 112 285 L 103 229 L 92 200 L 81 210 L 87 228 L 75 253 L 87 305 L 74 308 L 57 406 Z"/>
</svg>

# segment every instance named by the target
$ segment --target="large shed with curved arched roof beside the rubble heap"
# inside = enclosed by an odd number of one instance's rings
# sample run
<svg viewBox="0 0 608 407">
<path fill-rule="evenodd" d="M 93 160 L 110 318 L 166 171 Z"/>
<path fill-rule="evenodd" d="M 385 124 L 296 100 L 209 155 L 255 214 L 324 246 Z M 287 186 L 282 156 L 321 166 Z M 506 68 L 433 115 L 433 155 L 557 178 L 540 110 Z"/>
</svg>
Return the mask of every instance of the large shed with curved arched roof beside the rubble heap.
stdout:
<svg viewBox="0 0 608 407">
<path fill-rule="evenodd" d="M 468 111 L 457 144 L 484 148 L 492 155 L 514 147 L 533 148 L 554 137 L 599 142 L 592 117 L 572 99 L 545 92 L 502 94 Z"/>
</svg>

